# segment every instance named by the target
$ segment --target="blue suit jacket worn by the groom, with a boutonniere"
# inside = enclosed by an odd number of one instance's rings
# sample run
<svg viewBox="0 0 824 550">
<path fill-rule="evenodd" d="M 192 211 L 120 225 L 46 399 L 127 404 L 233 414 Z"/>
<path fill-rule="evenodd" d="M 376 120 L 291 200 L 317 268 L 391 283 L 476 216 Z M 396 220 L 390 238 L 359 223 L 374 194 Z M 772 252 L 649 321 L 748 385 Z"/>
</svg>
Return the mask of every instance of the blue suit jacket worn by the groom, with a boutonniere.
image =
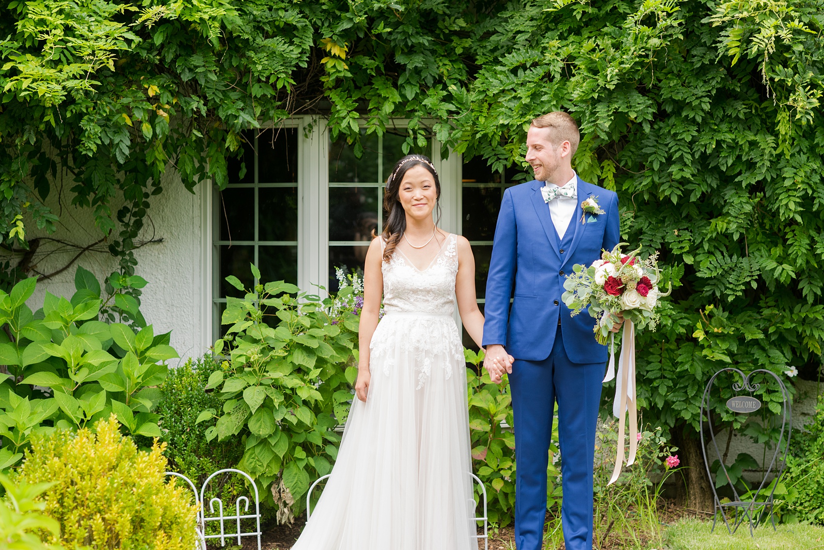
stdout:
<svg viewBox="0 0 824 550">
<path fill-rule="evenodd" d="M 543 361 L 552 352 L 560 316 L 569 360 L 606 362 L 606 346 L 592 332 L 595 319 L 587 310 L 571 317 L 561 300 L 566 279 L 561 273 L 572 273 L 575 263 L 589 265 L 602 249 L 620 242 L 618 195 L 578 178 L 578 206 L 564 235 L 569 248 L 561 252 L 550 208 L 541 196 L 543 186 L 532 180 L 503 193 L 486 281 L 483 343 L 503 344 L 516 359 Z M 581 202 L 591 196 L 597 196 L 605 213 L 582 224 Z"/>
</svg>

